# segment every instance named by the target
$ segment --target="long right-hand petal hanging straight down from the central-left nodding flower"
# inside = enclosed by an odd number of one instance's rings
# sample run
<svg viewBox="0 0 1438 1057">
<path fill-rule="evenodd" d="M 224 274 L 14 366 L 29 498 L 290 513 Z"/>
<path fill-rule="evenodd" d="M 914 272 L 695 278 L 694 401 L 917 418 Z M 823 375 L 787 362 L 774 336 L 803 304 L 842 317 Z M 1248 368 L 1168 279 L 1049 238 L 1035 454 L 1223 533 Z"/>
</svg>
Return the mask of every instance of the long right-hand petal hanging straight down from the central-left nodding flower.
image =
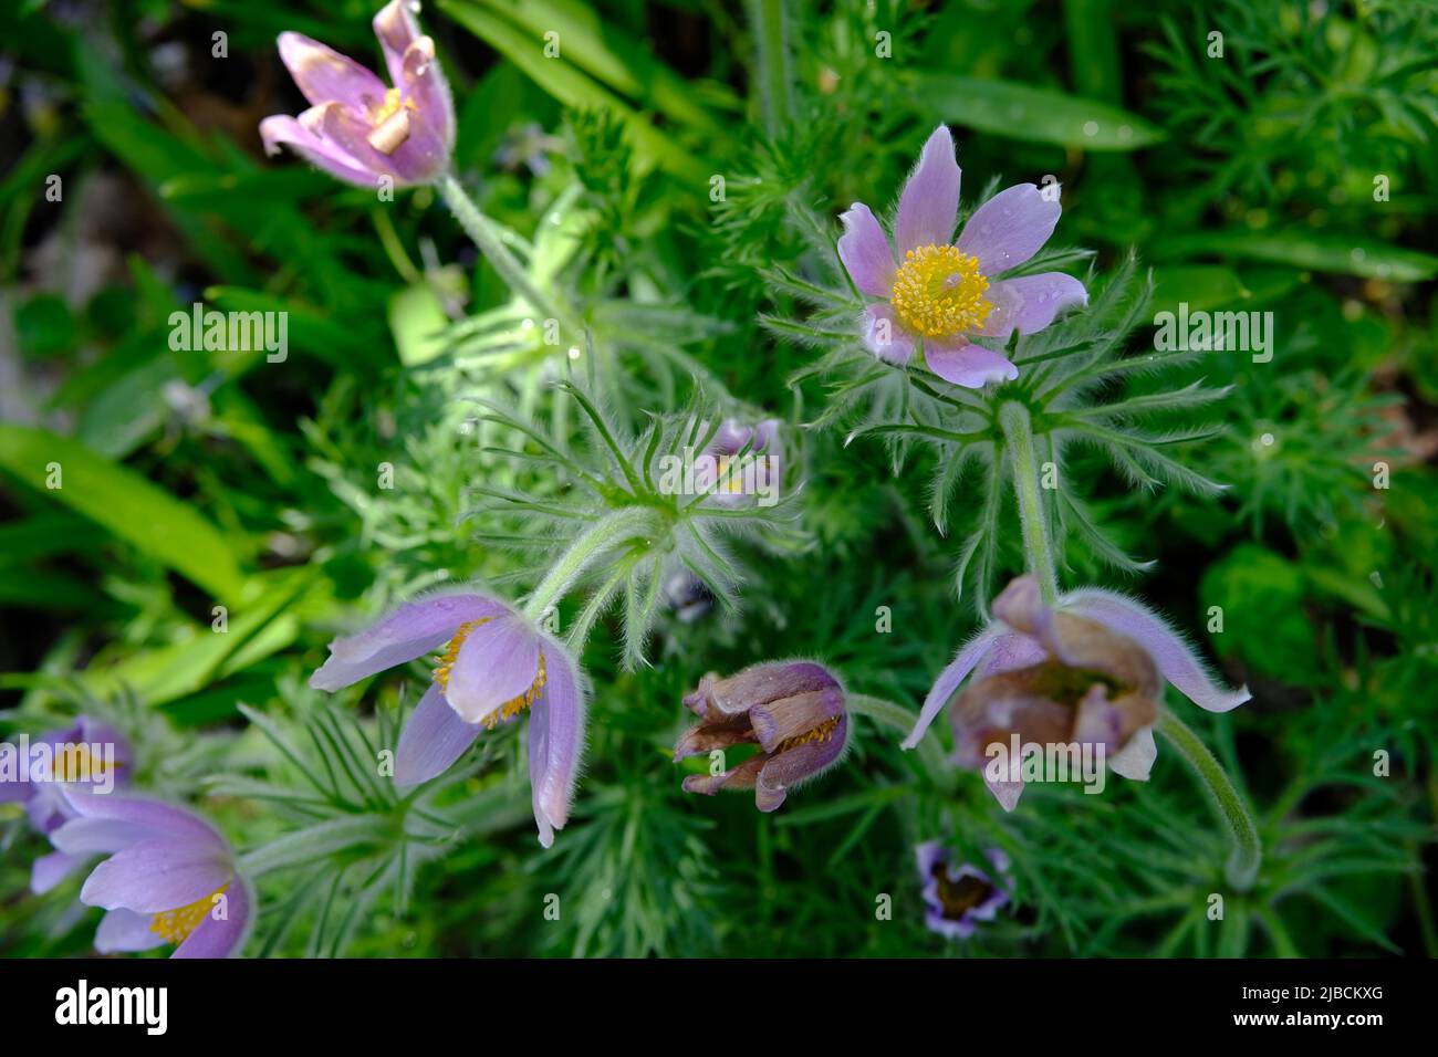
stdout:
<svg viewBox="0 0 1438 1057">
<path fill-rule="evenodd" d="M 544 641 L 549 680 L 529 716 L 529 791 L 539 843 L 569 821 L 569 802 L 584 754 L 585 689 L 574 662 L 552 639 Z"/>
</svg>

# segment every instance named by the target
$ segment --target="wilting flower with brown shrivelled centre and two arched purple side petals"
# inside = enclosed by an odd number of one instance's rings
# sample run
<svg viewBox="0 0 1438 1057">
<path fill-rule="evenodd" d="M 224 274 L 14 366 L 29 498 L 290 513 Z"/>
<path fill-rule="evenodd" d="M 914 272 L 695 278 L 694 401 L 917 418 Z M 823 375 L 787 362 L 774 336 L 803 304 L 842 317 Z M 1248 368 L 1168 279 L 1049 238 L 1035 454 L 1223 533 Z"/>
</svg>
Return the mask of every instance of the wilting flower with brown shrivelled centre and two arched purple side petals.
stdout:
<svg viewBox="0 0 1438 1057">
<path fill-rule="evenodd" d="M 969 768 L 982 768 L 985 749 L 1017 732 L 1041 743 L 1103 743 L 1110 769 L 1148 781 L 1162 680 L 1208 712 L 1228 712 L 1251 696 L 1248 687 L 1221 686 L 1182 636 L 1140 603 L 1083 588 L 1050 608 L 1028 574 L 1004 588 L 994 621 L 939 673 L 903 748 L 919 743 L 971 673 L 951 709 L 955 762 Z M 985 784 L 1005 811 L 1024 792 L 1021 781 L 985 774 Z"/>
</svg>

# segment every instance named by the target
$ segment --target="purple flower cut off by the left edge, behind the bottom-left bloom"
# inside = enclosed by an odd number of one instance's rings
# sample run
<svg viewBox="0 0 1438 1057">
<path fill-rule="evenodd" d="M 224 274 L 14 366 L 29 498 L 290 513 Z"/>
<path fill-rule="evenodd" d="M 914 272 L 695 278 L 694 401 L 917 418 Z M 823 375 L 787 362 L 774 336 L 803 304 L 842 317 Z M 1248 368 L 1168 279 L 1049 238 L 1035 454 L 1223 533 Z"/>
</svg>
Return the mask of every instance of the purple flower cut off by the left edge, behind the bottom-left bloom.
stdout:
<svg viewBox="0 0 1438 1057">
<path fill-rule="evenodd" d="M 42 752 L 36 752 L 45 746 Z M 55 833 L 73 818 L 65 788 L 75 785 L 109 794 L 129 784 L 134 755 L 129 742 L 115 728 L 89 716 L 78 716 L 63 731 L 50 731 L 29 742 L 35 756 L 26 774 L 9 779 L 0 774 L 0 804 L 24 804 L 30 824 L 43 834 Z M 65 880 L 83 860 L 52 851 L 35 860 L 30 889 L 40 894 Z"/>
</svg>

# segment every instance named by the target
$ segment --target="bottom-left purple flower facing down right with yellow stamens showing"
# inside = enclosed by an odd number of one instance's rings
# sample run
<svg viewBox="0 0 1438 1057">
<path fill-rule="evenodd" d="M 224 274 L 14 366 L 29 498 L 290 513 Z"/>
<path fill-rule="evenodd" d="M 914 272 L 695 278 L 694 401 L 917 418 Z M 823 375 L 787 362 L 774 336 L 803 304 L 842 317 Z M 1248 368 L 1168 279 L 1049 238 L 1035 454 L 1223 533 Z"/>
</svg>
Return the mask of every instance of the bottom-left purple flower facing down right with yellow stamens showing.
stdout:
<svg viewBox="0 0 1438 1057">
<path fill-rule="evenodd" d="M 85 879 L 81 902 L 108 913 L 95 949 L 150 951 L 171 958 L 230 958 L 249 938 L 255 889 L 234 851 L 194 811 L 139 797 L 105 797 L 66 787 L 73 817 L 50 834 L 76 859 L 105 856 Z"/>
</svg>

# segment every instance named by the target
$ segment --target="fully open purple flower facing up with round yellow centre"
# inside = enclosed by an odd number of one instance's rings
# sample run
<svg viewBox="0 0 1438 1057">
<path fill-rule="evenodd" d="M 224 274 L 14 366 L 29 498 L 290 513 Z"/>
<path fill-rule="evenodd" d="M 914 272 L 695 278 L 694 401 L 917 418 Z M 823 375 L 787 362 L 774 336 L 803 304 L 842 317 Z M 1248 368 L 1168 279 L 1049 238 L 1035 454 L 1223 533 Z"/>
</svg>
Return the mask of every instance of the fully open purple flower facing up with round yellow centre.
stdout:
<svg viewBox="0 0 1438 1057">
<path fill-rule="evenodd" d="M 1034 184 L 999 191 L 955 239 L 959 164 L 949 129 L 939 125 L 899 196 L 893 243 L 863 203 L 840 217 L 838 257 L 854 286 L 880 298 L 861 318 L 869 351 L 907 364 L 922 341 L 929 370 L 955 385 L 982 388 L 1017 378 L 1014 364 L 974 339 L 1034 334 L 1060 309 L 1089 303 L 1083 283 L 1063 272 L 997 278 L 1032 257 L 1054 233 L 1058 197 L 1047 191 Z"/>
</svg>

